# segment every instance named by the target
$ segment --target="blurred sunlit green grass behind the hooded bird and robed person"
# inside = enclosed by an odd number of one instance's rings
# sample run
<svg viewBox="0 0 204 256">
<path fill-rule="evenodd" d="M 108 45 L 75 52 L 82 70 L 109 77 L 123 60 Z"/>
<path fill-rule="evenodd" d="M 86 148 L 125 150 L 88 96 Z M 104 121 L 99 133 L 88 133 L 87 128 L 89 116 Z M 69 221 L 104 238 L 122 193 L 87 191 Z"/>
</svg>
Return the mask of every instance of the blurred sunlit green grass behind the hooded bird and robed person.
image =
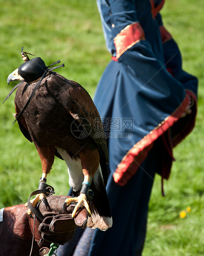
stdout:
<svg viewBox="0 0 204 256">
<path fill-rule="evenodd" d="M 0 6 L 0 102 L 15 85 L 7 85 L 7 76 L 22 64 L 22 46 L 46 65 L 60 59 L 65 68 L 58 72 L 93 96 L 110 60 L 95 0 L 0 0 Z M 184 69 L 199 78 L 198 115 L 193 132 L 174 150 L 176 162 L 165 182 L 165 198 L 160 177 L 155 178 L 143 256 L 204 255 L 203 9 L 202 0 L 166 0 L 162 10 L 164 24 L 181 49 Z M 0 105 L 0 208 L 26 202 L 42 173 L 35 146 L 17 123 L 12 125 L 14 94 Z M 55 159 L 47 183 L 56 194 L 67 194 L 67 167 L 60 159 Z M 191 211 L 182 219 L 179 213 L 187 206 Z"/>
</svg>

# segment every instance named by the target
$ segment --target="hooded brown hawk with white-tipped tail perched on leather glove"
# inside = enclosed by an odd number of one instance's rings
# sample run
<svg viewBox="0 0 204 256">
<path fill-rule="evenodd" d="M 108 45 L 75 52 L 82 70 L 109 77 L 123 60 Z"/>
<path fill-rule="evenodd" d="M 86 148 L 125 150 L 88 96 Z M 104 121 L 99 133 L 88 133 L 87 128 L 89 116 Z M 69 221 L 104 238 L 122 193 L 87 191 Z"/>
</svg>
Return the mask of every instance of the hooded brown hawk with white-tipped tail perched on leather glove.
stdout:
<svg viewBox="0 0 204 256">
<path fill-rule="evenodd" d="M 87 226 L 107 230 L 112 225 L 105 189 L 108 150 L 95 104 L 79 83 L 52 71 L 39 57 L 29 59 L 23 48 L 21 55 L 24 63 L 8 76 L 7 82 L 21 81 L 14 100 L 15 117 L 41 159 L 39 183 L 46 183 L 55 155 L 65 160 L 74 195 L 65 203 L 78 202 L 72 217 L 85 206 L 89 213 Z M 35 207 L 42 197 L 38 195 L 32 205 Z"/>
</svg>

